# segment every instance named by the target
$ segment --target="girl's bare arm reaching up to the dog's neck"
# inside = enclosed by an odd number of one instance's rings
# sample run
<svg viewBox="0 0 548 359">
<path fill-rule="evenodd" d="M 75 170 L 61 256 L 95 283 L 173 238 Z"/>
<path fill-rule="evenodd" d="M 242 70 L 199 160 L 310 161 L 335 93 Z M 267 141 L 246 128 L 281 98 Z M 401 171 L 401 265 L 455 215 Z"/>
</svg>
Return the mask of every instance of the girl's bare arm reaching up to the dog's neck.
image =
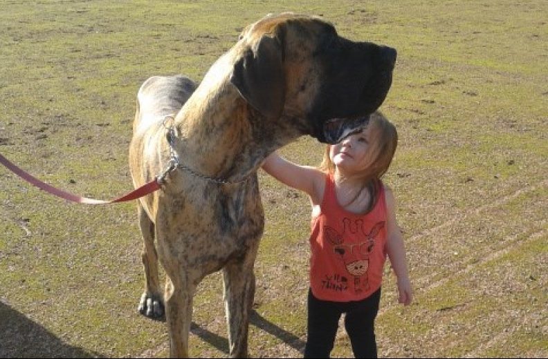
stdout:
<svg viewBox="0 0 548 359">
<path fill-rule="evenodd" d="M 314 167 L 294 164 L 274 152 L 266 157 L 262 168 L 283 184 L 308 193 L 312 200 L 323 193 L 325 175 Z"/>
</svg>

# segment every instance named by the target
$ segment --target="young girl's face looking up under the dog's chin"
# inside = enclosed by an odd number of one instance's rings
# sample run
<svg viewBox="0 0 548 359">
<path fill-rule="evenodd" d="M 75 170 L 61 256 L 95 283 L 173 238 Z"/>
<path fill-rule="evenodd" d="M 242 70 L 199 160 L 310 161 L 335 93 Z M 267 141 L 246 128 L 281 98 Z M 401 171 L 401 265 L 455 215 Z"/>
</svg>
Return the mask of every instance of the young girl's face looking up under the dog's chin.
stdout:
<svg viewBox="0 0 548 359">
<path fill-rule="evenodd" d="M 371 127 L 367 126 L 329 148 L 331 161 L 345 175 L 358 174 L 367 168 Z"/>
</svg>

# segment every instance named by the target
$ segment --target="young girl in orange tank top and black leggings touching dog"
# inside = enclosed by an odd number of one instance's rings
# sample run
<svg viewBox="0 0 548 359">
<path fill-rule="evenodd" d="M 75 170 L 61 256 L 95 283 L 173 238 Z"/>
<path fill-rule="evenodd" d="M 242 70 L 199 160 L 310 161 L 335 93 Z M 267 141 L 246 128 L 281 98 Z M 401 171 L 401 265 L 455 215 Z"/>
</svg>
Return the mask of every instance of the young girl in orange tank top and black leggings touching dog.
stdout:
<svg viewBox="0 0 548 359">
<path fill-rule="evenodd" d="M 374 320 L 386 255 L 397 277 L 399 302 L 412 300 L 394 195 L 380 179 L 396 144 L 394 126 L 374 113 L 359 133 L 328 145 L 319 168 L 293 164 L 277 153 L 262 166 L 280 182 L 306 192 L 312 206 L 304 358 L 329 357 L 342 313 L 354 356 L 376 358 Z"/>
</svg>

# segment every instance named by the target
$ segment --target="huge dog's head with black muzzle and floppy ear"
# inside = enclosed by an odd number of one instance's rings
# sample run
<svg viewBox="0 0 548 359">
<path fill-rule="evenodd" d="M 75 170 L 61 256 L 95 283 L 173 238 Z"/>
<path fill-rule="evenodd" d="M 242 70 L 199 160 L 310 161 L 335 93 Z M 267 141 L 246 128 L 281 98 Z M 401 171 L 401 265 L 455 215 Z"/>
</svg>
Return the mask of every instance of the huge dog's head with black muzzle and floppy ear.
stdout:
<svg viewBox="0 0 548 359">
<path fill-rule="evenodd" d="M 396 50 L 337 35 L 318 17 L 268 15 L 245 28 L 230 81 L 265 117 L 334 144 L 383 103 Z"/>
</svg>

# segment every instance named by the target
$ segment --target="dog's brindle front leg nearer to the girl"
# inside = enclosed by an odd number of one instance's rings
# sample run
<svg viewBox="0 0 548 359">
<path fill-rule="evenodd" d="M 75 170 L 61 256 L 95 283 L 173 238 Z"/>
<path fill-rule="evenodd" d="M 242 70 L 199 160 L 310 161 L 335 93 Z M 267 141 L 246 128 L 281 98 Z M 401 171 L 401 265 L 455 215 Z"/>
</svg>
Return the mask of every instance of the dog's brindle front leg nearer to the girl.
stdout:
<svg viewBox="0 0 548 359">
<path fill-rule="evenodd" d="M 232 358 L 248 357 L 249 313 L 255 296 L 254 261 L 255 253 L 253 260 L 246 258 L 244 262 L 227 264 L 223 269 L 223 298 Z"/>
</svg>

